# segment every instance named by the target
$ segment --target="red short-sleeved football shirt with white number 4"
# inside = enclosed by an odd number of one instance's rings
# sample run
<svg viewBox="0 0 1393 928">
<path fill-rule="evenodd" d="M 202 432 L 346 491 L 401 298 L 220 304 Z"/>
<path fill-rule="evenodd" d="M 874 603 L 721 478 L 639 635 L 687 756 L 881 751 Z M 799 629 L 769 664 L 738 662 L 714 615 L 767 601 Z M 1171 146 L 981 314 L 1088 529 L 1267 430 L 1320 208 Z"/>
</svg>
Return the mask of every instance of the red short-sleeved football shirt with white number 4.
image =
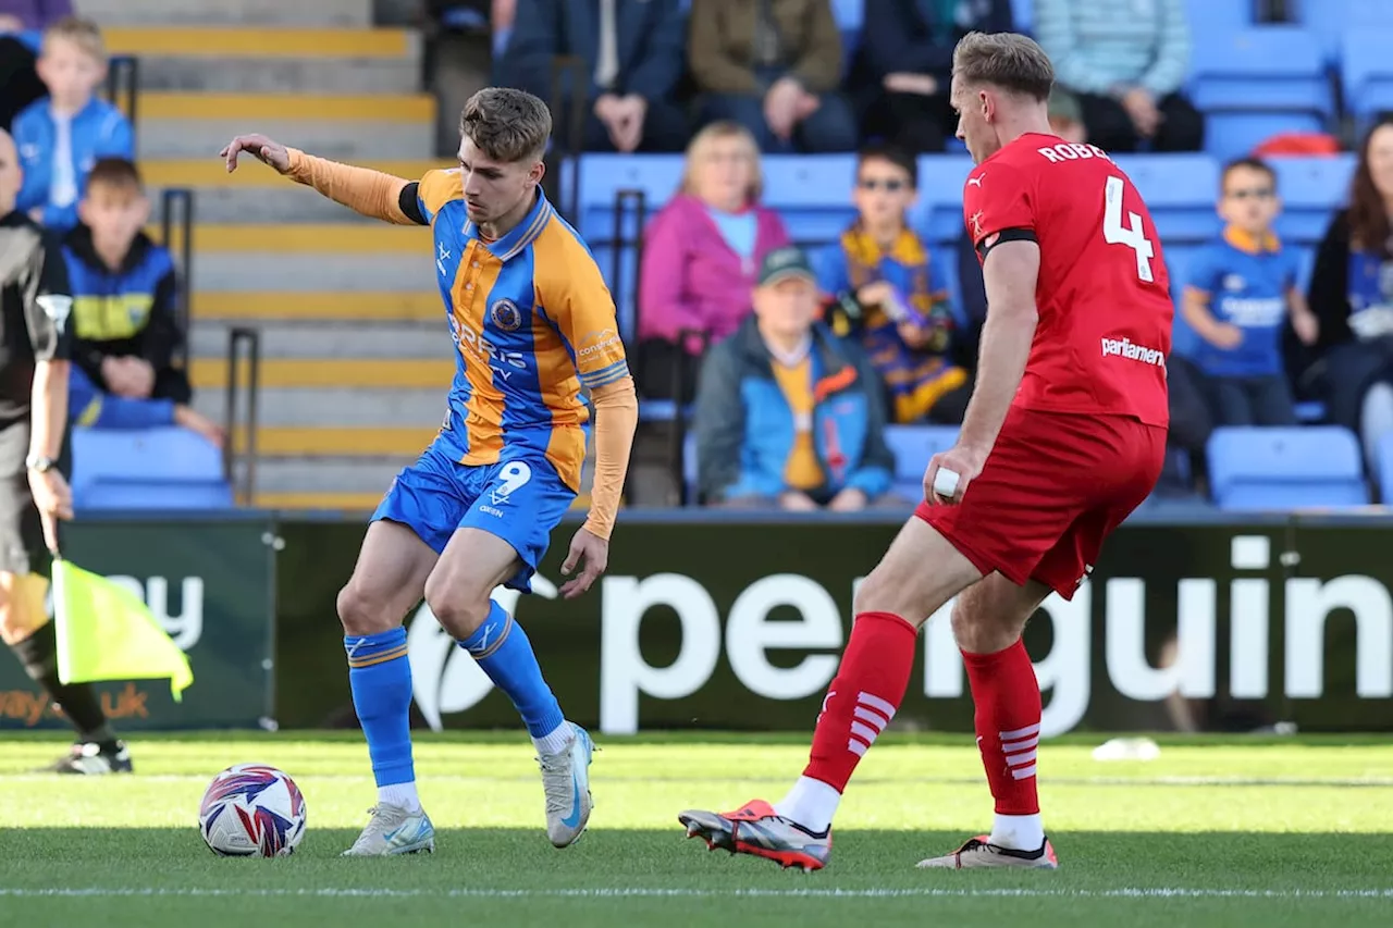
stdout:
<svg viewBox="0 0 1393 928">
<path fill-rule="evenodd" d="M 1156 224 L 1107 153 L 1022 135 L 972 170 L 963 215 L 978 255 L 1006 230 L 1039 242 L 1039 325 L 1014 404 L 1167 425 L 1170 279 Z"/>
</svg>

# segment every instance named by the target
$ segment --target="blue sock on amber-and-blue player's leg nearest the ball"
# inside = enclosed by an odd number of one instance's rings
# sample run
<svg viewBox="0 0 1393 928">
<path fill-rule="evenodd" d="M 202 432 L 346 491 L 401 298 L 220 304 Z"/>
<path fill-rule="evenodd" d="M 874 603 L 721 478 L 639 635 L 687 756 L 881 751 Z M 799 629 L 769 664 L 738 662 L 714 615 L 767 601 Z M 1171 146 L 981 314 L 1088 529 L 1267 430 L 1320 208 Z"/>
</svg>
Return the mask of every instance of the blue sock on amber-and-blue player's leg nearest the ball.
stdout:
<svg viewBox="0 0 1393 928">
<path fill-rule="evenodd" d="M 372 776 L 378 786 L 412 783 L 411 762 L 411 663 L 407 660 L 407 630 L 393 628 L 373 635 L 345 635 L 348 686 L 368 738 Z"/>
</svg>

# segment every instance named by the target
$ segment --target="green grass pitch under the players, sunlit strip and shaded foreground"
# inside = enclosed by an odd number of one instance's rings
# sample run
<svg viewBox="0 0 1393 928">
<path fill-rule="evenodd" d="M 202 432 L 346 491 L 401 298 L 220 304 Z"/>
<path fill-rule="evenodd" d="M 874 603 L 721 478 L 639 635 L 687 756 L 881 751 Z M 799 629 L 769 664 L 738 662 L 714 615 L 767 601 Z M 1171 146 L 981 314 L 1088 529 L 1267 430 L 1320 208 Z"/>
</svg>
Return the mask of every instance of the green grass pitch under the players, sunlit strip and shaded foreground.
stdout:
<svg viewBox="0 0 1393 928">
<path fill-rule="evenodd" d="M 677 812 L 781 797 L 807 737 L 599 737 L 595 814 L 574 847 L 542 830 L 520 736 L 418 738 L 437 851 L 344 860 L 372 805 L 357 733 L 134 738 L 138 773 L 28 775 L 64 743 L 0 744 L 0 924 L 898 925 L 1279 928 L 1393 924 L 1393 745 L 1386 740 L 1162 740 L 1095 762 L 1094 738 L 1041 748 L 1057 872 L 928 872 L 986 830 L 970 737 L 883 736 L 861 764 L 827 869 L 710 854 Z M 198 836 L 219 769 L 259 761 L 305 793 L 294 857 L 224 860 Z M 371 920 L 371 921 L 369 921 Z"/>
</svg>

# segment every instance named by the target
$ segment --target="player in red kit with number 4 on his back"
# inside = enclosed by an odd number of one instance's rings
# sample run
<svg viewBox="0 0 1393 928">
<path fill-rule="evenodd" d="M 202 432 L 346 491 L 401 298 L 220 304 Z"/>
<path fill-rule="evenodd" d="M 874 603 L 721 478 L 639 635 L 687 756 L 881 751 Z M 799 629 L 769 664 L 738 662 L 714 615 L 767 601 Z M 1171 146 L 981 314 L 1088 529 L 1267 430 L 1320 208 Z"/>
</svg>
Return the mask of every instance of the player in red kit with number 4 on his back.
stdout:
<svg viewBox="0 0 1393 928">
<path fill-rule="evenodd" d="M 963 215 L 988 302 L 972 401 L 957 444 L 929 461 L 925 502 L 857 592 L 802 776 L 775 804 L 683 812 L 710 847 L 827 863 L 832 817 L 904 698 L 918 630 L 957 595 L 953 634 L 996 817 L 990 835 L 919 865 L 1057 865 L 1035 791 L 1041 693 L 1021 631 L 1050 591 L 1073 598 L 1156 484 L 1173 311 L 1131 181 L 1102 149 L 1050 132 L 1053 79 L 1022 35 L 974 32 L 954 50 L 957 137 L 976 162 Z"/>
</svg>

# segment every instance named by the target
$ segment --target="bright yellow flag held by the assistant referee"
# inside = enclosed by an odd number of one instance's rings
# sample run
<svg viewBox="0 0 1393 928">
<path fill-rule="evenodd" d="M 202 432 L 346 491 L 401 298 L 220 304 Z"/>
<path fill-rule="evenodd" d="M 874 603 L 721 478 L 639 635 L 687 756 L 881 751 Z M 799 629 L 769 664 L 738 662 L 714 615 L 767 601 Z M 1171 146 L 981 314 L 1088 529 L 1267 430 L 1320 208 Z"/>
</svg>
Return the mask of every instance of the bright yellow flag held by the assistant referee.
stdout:
<svg viewBox="0 0 1393 928">
<path fill-rule="evenodd" d="M 176 702 L 194 683 L 188 656 L 138 596 L 61 559 L 53 562 L 53 620 L 63 683 L 169 677 Z"/>
</svg>

